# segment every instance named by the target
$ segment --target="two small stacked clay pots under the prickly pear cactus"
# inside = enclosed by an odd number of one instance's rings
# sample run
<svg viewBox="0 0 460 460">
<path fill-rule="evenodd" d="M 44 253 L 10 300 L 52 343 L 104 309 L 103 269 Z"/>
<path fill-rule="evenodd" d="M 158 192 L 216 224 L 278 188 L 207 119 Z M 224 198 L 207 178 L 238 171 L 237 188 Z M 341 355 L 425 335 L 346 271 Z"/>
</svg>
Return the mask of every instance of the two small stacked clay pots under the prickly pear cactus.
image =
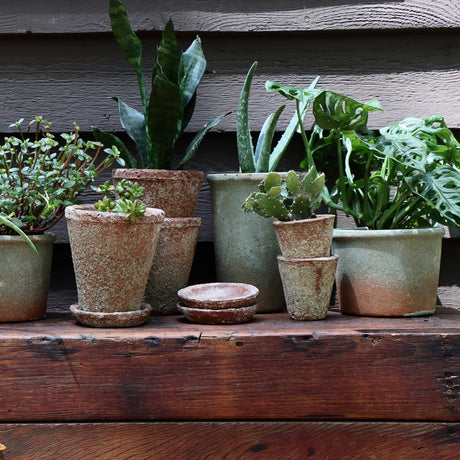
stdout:
<svg viewBox="0 0 460 460">
<path fill-rule="evenodd" d="M 327 317 L 338 256 L 331 256 L 334 216 L 275 221 L 281 248 L 278 266 L 286 307 L 294 320 Z"/>
</svg>

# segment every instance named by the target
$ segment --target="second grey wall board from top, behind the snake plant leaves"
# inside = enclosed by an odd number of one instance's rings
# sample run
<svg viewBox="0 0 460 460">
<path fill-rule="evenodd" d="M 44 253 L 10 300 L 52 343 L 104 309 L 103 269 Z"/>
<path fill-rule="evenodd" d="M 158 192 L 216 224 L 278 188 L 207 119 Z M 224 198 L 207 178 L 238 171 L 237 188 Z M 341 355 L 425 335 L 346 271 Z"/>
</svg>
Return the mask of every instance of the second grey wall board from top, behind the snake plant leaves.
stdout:
<svg viewBox="0 0 460 460">
<path fill-rule="evenodd" d="M 189 38 L 184 38 L 185 43 Z M 190 132 L 229 110 L 233 114 L 215 132 L 235 132 L 240 89 L 254 60 L 260 63 L 250 99 L 254 131 L 286 102 L 266 92 L 267 79 L 308 86 L 317 75 L 320 87 L 362 101 L 379 99 L 385 112 L 371 116 L 371 127 L 408 116 L 440 114 L 450 127 L 460 128 L 458 33 L 210 34 L 202 38 L 209 68 L 215 73 L 206 75 L 200 85 Z M 152 37 L 146 41 L 151 46 L 146 46 L 145 62 L 151 63 L 157 41 Z M 37 114 L 54 122 L 55 132 L 72 129 L 74 121 L 83 132 L 93 125 L 121 131 L 110 96 L 139 108 L 135 73 L 110 36 L 3 37 L 0 43 L 0 132 L 14 132 L 9 128 L 12 122 L 22 117 L 28 121 Z M 280 130 L 293 113 L 294 105 L 288 104 Z M 306 124 L 310 123 L 311 118 Z"/>
</svg>

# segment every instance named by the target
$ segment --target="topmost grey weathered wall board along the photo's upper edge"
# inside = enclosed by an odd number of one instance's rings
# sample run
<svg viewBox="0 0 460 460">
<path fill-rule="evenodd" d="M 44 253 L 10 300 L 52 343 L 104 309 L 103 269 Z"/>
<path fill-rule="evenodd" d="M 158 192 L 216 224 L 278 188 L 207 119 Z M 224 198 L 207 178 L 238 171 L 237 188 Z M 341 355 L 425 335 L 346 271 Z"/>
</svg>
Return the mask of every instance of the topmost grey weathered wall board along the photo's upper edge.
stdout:
<svg viewBox="0 0 460 460">
<path fill-rule="evenodd" d="M 146 0 L 124 2 L 135 29 L 161 30 L 172 16 L 177 30 L 276 32 L 458 28 L 456 0 L 352 2 L 338 0 Z M 31 4 L 16 0 L 0 18 L 3 34 L 108 32 L 108 2 L 81 0 Z"/>
</svg>

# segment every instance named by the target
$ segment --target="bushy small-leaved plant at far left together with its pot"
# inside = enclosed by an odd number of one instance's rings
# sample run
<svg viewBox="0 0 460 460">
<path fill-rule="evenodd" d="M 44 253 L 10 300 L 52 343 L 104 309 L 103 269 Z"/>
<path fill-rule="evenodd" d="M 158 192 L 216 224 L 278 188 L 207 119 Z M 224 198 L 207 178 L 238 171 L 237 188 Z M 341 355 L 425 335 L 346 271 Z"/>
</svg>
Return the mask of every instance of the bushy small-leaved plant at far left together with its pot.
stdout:
<svg viewBox="0 0 460 460">
<path fill-rule="evenodd" d="M 19 137 L 7 136 L 0 145 L 0 322 L 45 316 L 56 239 L 47 231 L 118 159 L 116 148 L 102 155 L 102 144 L 84 141 L 76 125 L 58 142 L 42 117 L 25 133 L 22 122 L 11 125 Z"/>
</svg>

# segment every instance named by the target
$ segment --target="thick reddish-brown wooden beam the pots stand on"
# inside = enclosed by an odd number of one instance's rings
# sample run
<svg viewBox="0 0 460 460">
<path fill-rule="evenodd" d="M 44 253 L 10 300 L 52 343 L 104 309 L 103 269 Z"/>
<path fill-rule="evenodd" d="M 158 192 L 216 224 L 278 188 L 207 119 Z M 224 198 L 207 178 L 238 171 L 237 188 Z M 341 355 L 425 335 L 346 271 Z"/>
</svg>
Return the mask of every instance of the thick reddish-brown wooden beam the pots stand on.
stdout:
<svg viewBox="0 0 460 460">
<path fill-rule="evenodd" d="M 0 420 L 459 421 L 460 312 L 229 327 L 0 325 Z"/>
</svg>

